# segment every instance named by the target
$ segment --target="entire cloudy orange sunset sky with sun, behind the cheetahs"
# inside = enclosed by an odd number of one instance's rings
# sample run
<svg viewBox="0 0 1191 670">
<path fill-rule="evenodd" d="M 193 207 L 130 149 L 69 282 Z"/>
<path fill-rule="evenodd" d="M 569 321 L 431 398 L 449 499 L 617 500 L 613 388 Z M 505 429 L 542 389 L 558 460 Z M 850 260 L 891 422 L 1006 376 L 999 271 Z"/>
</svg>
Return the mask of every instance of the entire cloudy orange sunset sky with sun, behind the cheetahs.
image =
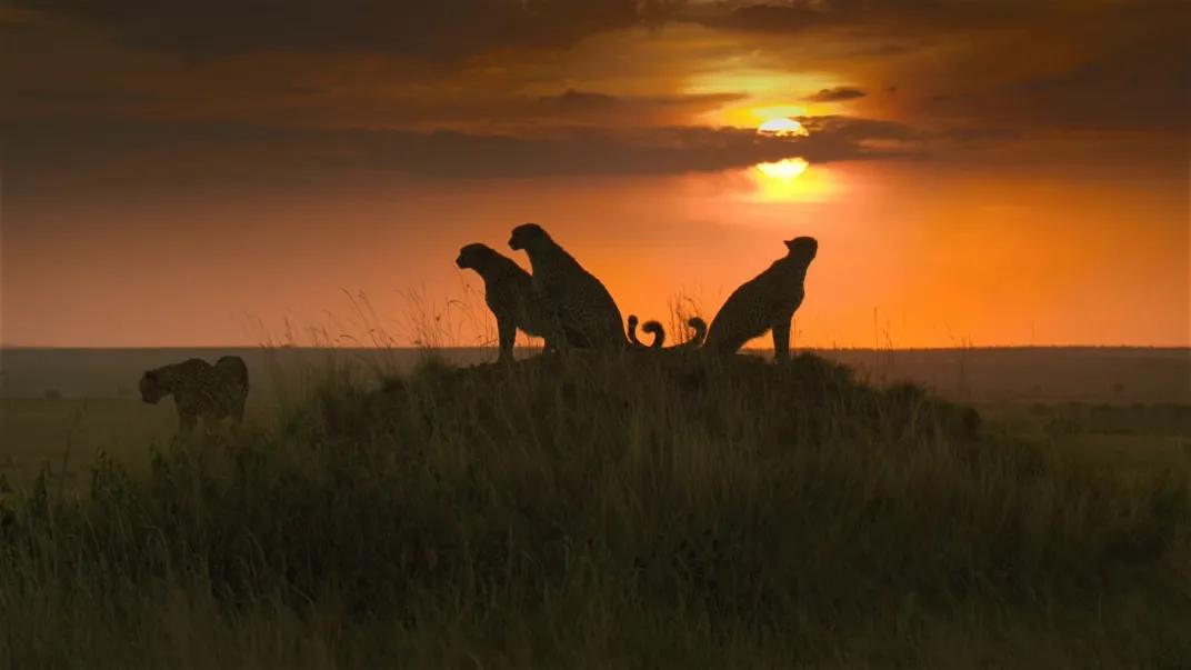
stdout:
<svg viewBox="0 0 1191 670">
<path fill-rule="evenodd" d="M 454 259 L 528 267 L 507 238 L 536 222 L 668 324 L 811 235 L 796 347 L 1191 346 L 1187 25 L 1149 0 L 0 0 L 0 341 L 490 345 Z"/>
</svg>

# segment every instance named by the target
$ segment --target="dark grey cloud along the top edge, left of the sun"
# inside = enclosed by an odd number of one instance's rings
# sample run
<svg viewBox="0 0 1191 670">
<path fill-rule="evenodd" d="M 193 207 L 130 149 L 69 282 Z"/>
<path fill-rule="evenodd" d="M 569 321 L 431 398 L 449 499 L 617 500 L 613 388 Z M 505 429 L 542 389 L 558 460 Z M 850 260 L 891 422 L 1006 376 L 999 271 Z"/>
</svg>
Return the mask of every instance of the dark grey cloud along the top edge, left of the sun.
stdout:
<svg viewBox="0 0 1191 670">
<path fill-rule="evenodd" d="M 370 51 L 450 60 L 565 46 L 668 14 L 661 0 L 13 0 L 101 26 L 125 43 L 207 58 L 254 51 Z"/>
</svg>

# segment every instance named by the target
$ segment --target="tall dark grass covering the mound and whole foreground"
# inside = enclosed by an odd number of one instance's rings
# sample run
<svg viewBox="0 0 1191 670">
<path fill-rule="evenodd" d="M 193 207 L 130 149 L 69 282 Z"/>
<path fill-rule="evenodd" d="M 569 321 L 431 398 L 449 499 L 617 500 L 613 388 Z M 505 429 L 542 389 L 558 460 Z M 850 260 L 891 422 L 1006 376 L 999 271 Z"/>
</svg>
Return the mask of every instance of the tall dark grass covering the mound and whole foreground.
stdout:
<svg viewBox="0 0 1191 670">
<path fill-rule="evenodd" d="M 330 380 L 10 496 L 0 665 L 1191 663 L 1186 472 L 1052 454 L 812 356 Z"/>
</svg>

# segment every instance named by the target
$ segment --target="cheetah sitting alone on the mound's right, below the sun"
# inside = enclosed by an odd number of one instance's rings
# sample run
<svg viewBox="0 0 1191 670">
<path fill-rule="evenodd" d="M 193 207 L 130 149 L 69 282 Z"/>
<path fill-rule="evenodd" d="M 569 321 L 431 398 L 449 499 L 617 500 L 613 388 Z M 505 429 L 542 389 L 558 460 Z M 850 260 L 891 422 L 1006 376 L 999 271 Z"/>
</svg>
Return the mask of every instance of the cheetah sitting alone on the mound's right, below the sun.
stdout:
<svg viewBox="0 0 1191 670">
<path fill-rule="evenodd" d="M 803 304 L 806 268 L 815 260 L 818 242 L 813 237 L 786 241 L 787 254 L 761 274 L 744 283 L 728 297 L 711 321 L 704 349 L 732 354 L 753 337 L 773 330 L 775 360 L 790 358 L 790 320 Z"/>
</svg>

